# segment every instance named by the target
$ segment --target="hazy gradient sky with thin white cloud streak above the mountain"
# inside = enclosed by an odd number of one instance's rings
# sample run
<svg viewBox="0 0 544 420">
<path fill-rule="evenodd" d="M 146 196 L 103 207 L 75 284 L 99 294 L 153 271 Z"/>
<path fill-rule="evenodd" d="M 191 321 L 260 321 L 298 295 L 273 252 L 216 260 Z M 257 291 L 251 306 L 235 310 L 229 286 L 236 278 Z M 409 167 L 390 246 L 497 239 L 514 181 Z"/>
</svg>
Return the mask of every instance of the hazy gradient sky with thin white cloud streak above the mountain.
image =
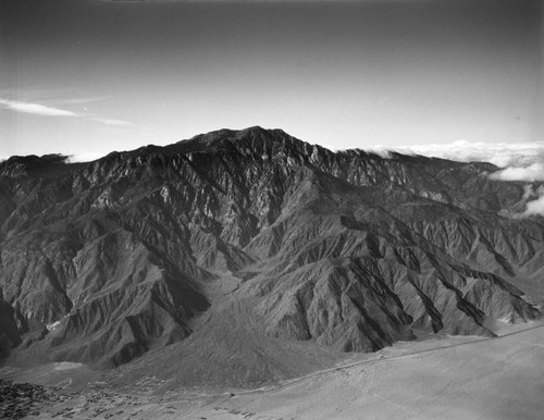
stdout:
<svg viewBox="0 0 544 420">
<path fill-rule="evenodd" d="M 0 2 L 0 157 L 544 140 L 541 1 Z"/>
</svg>

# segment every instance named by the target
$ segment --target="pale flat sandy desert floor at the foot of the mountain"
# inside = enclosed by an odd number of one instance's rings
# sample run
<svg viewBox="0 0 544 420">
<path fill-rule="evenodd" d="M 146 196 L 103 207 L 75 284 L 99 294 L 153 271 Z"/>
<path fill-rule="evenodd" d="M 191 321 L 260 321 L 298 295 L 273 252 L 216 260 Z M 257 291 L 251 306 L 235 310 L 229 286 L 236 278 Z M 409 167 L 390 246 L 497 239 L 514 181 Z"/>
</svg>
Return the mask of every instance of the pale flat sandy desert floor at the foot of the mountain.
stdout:
<svg viewBox="0 0 544 420">
<path fill-rule="evenodd" d="M 115 392 L 107 376 L 77 363 L 32 371 L 2 368 L 0 375 L 64 385 L 69 398 L 28 417 L 35 419 L 542 418 L 544 325 L 503 334 L 399 343 L 277 386 L 214 395 L 187 388 L 157 396 L 163 383 L 152 375 Z"/>
</svg>

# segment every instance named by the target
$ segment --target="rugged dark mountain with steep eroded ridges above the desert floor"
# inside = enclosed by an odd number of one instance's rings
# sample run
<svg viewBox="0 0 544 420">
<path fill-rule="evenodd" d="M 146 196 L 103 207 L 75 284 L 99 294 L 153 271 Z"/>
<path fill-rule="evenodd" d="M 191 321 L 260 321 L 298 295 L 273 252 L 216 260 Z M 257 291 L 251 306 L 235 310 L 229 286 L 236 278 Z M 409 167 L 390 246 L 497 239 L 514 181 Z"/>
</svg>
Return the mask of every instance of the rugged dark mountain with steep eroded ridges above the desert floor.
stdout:
<svg viewBox="0 0 544 420">
<path fill-rule="evenodd" d="M 512 217 L 528 183 L 496 170 L 260 127 L 88 163 L 12 157 L 1 349 L 255 385 L 342 351 L 493 336 L 544 299 L 544 220 Z"/>
</svg>

